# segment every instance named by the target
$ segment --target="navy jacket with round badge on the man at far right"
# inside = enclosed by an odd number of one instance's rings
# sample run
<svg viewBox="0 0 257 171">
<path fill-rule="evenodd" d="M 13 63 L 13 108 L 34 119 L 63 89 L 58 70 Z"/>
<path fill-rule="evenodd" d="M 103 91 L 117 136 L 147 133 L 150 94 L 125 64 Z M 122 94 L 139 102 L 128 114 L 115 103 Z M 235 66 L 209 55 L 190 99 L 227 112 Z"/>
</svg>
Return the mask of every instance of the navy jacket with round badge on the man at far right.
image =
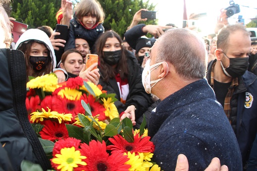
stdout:
<svg viewBox="0 0 257 171">
<path fill-rule="evenodd" d="M 211 66 L 216 61 L 208 64 L 207 80 L 210 84 Z M 245 163 L 250 154 L 251 147 L 257 134 L 257 76 L 246 71 L 242 77 L 238 77 L 238 86 L 235 87 L 231 104 L 231 116 L 235 116 L 236 125 L 232 128 Z M 249 103 L 250 106 L 247 106 Z"/>
</svg>

